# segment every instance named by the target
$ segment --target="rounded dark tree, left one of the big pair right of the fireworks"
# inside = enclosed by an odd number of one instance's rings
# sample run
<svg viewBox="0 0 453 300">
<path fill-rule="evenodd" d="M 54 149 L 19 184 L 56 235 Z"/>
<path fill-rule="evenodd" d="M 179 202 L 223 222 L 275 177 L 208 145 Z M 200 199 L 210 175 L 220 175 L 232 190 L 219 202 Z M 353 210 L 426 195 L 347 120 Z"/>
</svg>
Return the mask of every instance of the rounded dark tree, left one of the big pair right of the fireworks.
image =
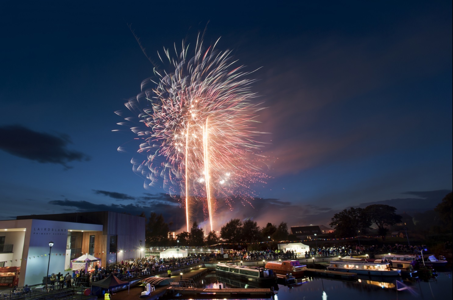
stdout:
<svg viewBox="0 0 453 300">
<path fill-rule="evenodd" d="M 334 214 L 329 225 L 335 228 L 335 237 L 355 237 L 359 230 L 371 226 L 371 220 L 365 209 L 350 208 Z"/>
</svg>

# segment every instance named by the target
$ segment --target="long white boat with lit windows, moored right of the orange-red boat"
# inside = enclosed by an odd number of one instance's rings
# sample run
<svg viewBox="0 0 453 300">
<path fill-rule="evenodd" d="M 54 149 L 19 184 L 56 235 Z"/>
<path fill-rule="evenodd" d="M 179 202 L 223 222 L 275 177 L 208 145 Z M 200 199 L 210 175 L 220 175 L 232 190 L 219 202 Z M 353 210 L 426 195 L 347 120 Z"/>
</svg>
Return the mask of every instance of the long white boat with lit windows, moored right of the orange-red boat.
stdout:
<svg viewBox="0 0 453 300">
<path fill-rule="evenodd" d="M 327 269 L 373 276 L 399 276 L 401 274 L 400 269 L 391 268 L 388 262 L 331 261 Z"/>
</svg>

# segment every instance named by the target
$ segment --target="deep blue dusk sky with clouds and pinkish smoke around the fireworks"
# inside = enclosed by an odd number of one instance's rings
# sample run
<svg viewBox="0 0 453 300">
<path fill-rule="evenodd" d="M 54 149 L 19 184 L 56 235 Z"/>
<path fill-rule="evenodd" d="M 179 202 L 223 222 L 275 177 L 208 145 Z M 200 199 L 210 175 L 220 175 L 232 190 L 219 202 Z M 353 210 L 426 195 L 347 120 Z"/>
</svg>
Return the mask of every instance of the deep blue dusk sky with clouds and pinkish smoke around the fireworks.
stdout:
<svg viewBox="0 0 453 300">
<path fill-rule="evenodd" d="M 248 77 L 270 178 L 253 206 L 219 203 L 217 230 L 231 218 L 326 225 L 371 203 L 434 208 L 452 189 L 452 2 L 247 2 L 0 1 L 0 219 L 154 211 L 183 227 L 168 191 L 133 172 L 145 156 L 116 124 L 153 76 L 130 28 L 156 63 L 206 29 L 206 44 L 221 37 L 259 68 Z"/>
</svg>

